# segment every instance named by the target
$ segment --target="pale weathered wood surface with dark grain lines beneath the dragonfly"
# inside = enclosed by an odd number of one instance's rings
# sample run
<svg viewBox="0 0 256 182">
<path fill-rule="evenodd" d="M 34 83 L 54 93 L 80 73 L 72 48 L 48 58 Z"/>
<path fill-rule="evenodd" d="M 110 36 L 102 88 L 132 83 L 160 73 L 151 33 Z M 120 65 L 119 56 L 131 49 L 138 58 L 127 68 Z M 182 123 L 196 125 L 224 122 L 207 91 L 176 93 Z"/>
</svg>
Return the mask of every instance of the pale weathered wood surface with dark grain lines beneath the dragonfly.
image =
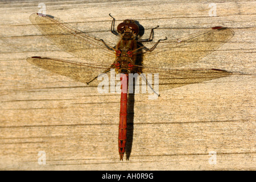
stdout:
<svg viewBox="0 0 256 182">
<path fill-rule="evenodd" d="M 157 100 L 135 95 L 123 162 L 119 94 L 99 94 L 27 63 L 29 56 L 72 59 L 31 24 L 40 2 L 0 2 L 0 169 L 255 169 L 255 2 L 216 1 L 217 16 L 209 16 L 205 1 L 44 1 L 47 14 L 113 44 L 109 13 L 117 23 L 138 20 L 145 37 L 159 25 L 155 40 L 213 26 L 235 32 L 197 67 L 244 75 L 167 90 Z M 210 151 L 216 164 L 209 164 Z"/>
</svg>

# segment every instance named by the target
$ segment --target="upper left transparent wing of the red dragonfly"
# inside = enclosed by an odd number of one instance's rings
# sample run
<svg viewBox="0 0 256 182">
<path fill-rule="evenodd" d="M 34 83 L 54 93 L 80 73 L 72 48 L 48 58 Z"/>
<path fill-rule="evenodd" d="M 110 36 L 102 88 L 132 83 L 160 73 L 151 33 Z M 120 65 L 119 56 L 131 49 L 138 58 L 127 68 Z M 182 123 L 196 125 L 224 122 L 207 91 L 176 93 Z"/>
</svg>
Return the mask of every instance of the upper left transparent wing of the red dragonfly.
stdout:
<svg viewBox="0 0 256 182">
<path fill-rule="evenodd" d="M 57 47 L 84 59 L 86 63 L 113 63 L 115 52 L 109 50 L 100 40 L 51 15 L 34 13 L 30 15 L 30 20 Z"/>
</svg>

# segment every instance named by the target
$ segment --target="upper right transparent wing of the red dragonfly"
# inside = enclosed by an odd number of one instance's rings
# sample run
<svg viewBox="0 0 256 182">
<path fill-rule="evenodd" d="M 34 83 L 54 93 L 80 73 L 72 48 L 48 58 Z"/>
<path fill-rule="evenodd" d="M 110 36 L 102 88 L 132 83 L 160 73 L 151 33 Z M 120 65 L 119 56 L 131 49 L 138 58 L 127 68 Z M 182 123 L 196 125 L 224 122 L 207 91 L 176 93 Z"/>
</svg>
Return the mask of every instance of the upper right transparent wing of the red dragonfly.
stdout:
<svg viewBox="0 0 256 182">
<path fill-rule="evenodd" d="M 144 53 L 144 67 L 175 68 L 196 63 L 225 44 L 234 35 L 230 28 L 213 27 L 177 39 L 160 42 L 152 52 Z"/>
</svg>

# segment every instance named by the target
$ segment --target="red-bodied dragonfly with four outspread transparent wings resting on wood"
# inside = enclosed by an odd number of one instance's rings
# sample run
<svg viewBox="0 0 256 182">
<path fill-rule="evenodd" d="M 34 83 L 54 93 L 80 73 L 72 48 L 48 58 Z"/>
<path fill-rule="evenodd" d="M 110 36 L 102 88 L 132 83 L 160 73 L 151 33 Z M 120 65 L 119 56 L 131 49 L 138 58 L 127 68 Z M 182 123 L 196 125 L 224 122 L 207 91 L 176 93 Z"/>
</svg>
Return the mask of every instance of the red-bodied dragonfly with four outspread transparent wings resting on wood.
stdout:
<svg viewBox="0 0 256 182">
<path fill-rule="evenodd" d="M 143 43 L 154 40 L 154 30 L 159 26 L 151 28 L 149 38 L 142 39 L 141 26 L 137 21 L 125 19 L 118 24 L 117 30 L 115 30 L 115 18 L 110 16 L 112 18 L 110 31 L 119 37 L 115 45 L 82 32 L 54 16 L 40 13 L 31 14 L 32 24 L 42 35 L 63 51 L 83 61 L 80 63 L 42 56 L 28 57 L 27 61 L 53 73 L 93 86 L 100 83 L 98 77 L 101 74 L 110 76 L 112 70 L 116 75 L 119 74 L 121 102 L 118 152 L 120 160 L 123 160 L 127 140 L 127 93 L 132 92 L 128 86 L 131 82 L 129 75 L 135 73 L 138 75 L 158 74 L 157 83 L 155 80 L 149 81 L 144 76 L 142 79 L 149 85 L 149 90 L 154 91 L 153 85 L 158 84 L 159 92 L 230 76 L 232 72 L 222 69 L 179 69 L 178 67 L 197 63 L 228 42 L 234 32 L 226 27 L 212 27 L 175 41 L 168 41 L 167 38 L 159 39 L 151 48 L 147 48 Z M 159 96 L 159 93 L 157 94 Z"/>
</svg>

